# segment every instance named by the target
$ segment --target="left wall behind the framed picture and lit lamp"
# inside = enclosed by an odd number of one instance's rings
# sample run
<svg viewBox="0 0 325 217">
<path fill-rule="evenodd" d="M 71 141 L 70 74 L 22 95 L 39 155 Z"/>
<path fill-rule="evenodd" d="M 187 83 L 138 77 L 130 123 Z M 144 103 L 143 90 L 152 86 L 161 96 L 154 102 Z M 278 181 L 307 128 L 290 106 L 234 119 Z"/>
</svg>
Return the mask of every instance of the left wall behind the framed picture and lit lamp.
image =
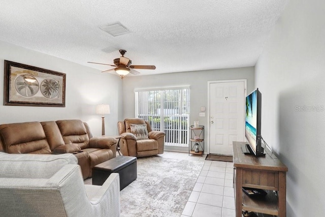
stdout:
<svg viewBox="0 0 325 217">
<path fill-rule="evenodd" d="M 106 134 L 116 135 L 122 117 L 122 81 L 118 76 L 81 66 L 67 60 L 0 41 L 0 89 L 4 89 L 4 60 L 66 73 L 66 107 L 4 106 L 0 94 L 0 123 L 81 119 L 94 136 L 102 134 L 101 115 L 95 106 L 109 104 L 105 117 Z"/>
</svg>

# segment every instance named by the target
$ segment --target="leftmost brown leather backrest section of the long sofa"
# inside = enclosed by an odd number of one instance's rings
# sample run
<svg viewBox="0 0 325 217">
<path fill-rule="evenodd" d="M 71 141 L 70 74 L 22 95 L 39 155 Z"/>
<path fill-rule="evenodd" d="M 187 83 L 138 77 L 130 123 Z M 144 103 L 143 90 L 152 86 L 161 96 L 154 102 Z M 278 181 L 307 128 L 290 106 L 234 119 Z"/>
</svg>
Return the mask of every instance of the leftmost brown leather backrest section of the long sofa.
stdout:
<svg viewBox="0 0 325 217">
<path fill-rule="evenodd" d="M 51 153 L 40 122 L 7 123 L 0 125 L 3 146 L 8 153 Z"/>
</svg>

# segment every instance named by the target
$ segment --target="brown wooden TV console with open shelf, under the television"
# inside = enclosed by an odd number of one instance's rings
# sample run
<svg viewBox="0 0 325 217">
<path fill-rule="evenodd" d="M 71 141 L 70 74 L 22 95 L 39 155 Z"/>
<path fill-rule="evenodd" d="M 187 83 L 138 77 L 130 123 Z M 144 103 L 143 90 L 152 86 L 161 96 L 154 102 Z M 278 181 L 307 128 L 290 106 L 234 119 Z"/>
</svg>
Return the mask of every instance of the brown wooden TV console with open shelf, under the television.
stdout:
<svg viewBox="0 0 325 217">
<path fill-rule="evenodd" d="M 245 144 L 233 142 L 236 217 L 242 216 L 242 210 L 285 217 L 288 168 L 267 148 L 264 150 L 265 156 L 245 155 L 241 149 Z M 263 189 L 268 194 L 261 198 L 251 198 L 242 191 L 242 187 Z M 277 191 L 277 196 L 273 191 Z"/>
</svg>

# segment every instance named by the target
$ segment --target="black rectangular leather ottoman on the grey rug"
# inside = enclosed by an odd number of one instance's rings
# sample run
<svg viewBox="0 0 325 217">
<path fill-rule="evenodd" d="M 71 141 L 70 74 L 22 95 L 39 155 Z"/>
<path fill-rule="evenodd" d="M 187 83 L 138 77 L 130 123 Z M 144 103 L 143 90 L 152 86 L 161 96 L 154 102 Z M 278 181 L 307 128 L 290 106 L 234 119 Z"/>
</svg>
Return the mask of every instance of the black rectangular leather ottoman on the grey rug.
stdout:
<svg viewBox="0 0 325 217">
<path fill-rule="evenodd" d="M 120 191 L 137 179 L 137 158 L 117 156 L 92 168 L 92 184 L 102 185 L 111 173 L 120 174 Z"/>
</svg>

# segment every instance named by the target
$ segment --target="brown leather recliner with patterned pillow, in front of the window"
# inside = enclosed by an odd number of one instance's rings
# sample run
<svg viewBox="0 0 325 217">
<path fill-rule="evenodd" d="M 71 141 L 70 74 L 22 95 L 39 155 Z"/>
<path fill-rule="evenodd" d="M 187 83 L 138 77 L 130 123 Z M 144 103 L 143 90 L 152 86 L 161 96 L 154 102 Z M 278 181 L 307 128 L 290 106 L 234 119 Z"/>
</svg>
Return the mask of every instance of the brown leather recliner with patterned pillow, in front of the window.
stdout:
<svg viewBox="0 0 325 217">
<path fill-rule="evenodd" d="M 165 133 L 152 131 L 149 121 L 126 118 L 117 122 L 122 136 L 120 149 L 124 156 L 147 157 L 164 153 Z"/>
</svg>

